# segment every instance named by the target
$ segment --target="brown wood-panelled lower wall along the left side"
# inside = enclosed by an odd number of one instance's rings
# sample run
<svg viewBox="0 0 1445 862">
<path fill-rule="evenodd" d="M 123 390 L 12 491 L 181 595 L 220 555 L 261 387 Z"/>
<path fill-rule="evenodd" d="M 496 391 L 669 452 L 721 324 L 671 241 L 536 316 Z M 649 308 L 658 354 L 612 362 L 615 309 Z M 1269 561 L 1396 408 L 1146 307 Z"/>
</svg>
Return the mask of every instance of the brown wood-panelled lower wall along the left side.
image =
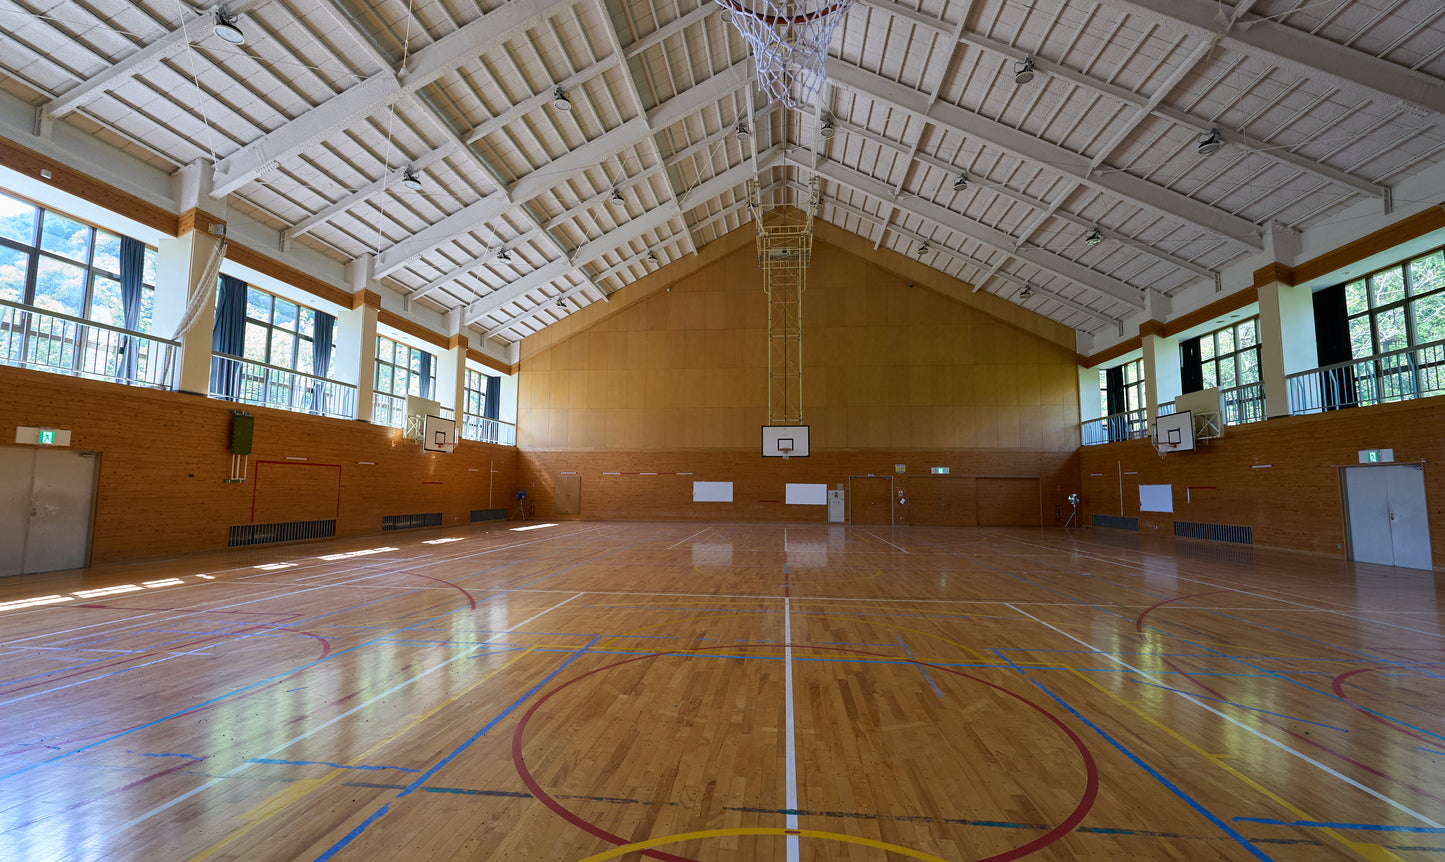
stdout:
<svg viewBox="0 0 1445 862">
<path fill-rule="evenodd" d="M 233 409 L 256 417 L 243 484 L 225 482 Z M 335 517 L 338 536 L 367 536 L 383 515 L 441 511 L 465 524 L 474 508 L 504 508 L 519 484 L 507 446 L 431 453 L 361 422 L 0 367 L 0 442 L 16 426 L 69 429 L 72 448 L 101 453 L 95 565 L 223 549 L 228 527 L 250 523 Z"/>
</svg>

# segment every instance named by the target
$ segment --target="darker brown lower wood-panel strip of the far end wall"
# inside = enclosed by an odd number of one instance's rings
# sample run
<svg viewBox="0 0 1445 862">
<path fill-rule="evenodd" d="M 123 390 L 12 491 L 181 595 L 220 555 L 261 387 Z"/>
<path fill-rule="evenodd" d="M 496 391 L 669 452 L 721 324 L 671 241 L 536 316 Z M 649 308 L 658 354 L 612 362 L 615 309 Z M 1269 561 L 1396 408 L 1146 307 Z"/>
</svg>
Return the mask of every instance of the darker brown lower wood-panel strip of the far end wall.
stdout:
<svg viewBox="0 0 1445 862">
<path fill-rule="evenodd" d="M 894 494 L 907 501 L 894 508 L 894 521 L 912 524 L 916 507 L 913 482 L 933 481 L 931 468 L 948 466 L 957 481 L 972 482 L 974 476 L 1025 478 L 1029 485 L 1029 511 L 1039 523 L 1039 488 L 1043 498 L 1043 524 L 1062 526 L 1068 517 L 1065 500 L 1078 491 L 1078 453 L 1051 450 L 942 450 L 915 449 L 902 452 L 824 450 L 812 449 L 808 458 L 763 458 L 754 449 L 737 450 L 646 450 L 611 452 L 522 452 L 522 475 L 527 502 L 535 517 L 555 520 L 559 515 L 556 489 L 561 478 L 577 475 L 584 520 L 725 520 L 824 523 L 827 505 L 788 505 L 785 491 L 789 482 L 821 484 L 828 488 L 848 488 L 850 476 L 893 478 Z M 903 463 L 903 472 L 897 465 Z M 1036 478 L 1035 478 L 1036 476 Z M 733 482 L 733 502 L 692 502 L 692 482 Z M 851 504 L 853 501 L 850 501 Z M 938 524 L 944 511 L 936 502 L 925 502 L 916 523 Z M 1017 508 L 1017 507 L 1013 507 Z M 984 505 L 978 504 L 981 513 Z M 884 508 L 886 511 L 886 508 Z M 1056 515 L 1056 513 L 1059 513 Z M 971 511 L 949 523 L 968 524 Z M 887 523 L 887 517 L 883 518 Z M 998 521 L 990 521 L 998 523 Z M 1013 523 L 1013 521 L 1010 521 Z"/>
</svg>

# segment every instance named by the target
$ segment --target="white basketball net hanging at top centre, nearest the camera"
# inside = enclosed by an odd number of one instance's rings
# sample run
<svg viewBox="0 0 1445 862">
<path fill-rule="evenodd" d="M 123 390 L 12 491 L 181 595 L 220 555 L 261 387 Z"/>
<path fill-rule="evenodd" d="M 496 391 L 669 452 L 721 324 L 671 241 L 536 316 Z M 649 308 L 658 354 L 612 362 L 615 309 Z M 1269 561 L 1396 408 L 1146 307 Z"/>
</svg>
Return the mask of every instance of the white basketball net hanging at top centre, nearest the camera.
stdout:
<svg viewBox="0 0 1445 862">
<path fill-rule="evenodd" d="M 789 108 L 811 108 L 824 81 L 832 29 L 853 0 L 715 0 L 747 39 L 757 87 Z"/>
</svg>

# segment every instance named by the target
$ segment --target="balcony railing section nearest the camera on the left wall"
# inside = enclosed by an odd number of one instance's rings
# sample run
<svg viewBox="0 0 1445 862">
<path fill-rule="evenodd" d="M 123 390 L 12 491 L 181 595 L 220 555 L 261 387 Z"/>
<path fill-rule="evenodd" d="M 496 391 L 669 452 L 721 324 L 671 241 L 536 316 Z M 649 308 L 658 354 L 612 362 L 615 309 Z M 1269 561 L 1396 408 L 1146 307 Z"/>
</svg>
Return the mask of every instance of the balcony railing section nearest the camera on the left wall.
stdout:
<svg viewBox="0 0 1445 862">
<path fill-rule="evenodd" d="M 91 380 L 175 388 L 179 344 L 0 299 L 0 362 Z"/>
</svg>

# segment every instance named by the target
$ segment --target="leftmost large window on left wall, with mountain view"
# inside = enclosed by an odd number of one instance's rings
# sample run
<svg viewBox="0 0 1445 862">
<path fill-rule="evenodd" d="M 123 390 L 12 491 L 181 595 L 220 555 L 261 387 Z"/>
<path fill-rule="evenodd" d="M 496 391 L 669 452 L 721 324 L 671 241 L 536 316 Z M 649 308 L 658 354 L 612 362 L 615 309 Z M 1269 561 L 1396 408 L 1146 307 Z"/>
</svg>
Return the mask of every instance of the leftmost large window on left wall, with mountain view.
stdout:
<svg viewBox="0 0 1445 862">
<path fill-rule="evenodd" d="M 0 193 L 0 300 L 36 309 L 0 306 L 0 361 L 123 381 L 146 381 L 158 371 L 153 342 L 84 322 L 126 329 L 121 240 Z M 133 331 L 150 332 L 155 293 L 156 250 L 146 248 Z"/>
</svg>

